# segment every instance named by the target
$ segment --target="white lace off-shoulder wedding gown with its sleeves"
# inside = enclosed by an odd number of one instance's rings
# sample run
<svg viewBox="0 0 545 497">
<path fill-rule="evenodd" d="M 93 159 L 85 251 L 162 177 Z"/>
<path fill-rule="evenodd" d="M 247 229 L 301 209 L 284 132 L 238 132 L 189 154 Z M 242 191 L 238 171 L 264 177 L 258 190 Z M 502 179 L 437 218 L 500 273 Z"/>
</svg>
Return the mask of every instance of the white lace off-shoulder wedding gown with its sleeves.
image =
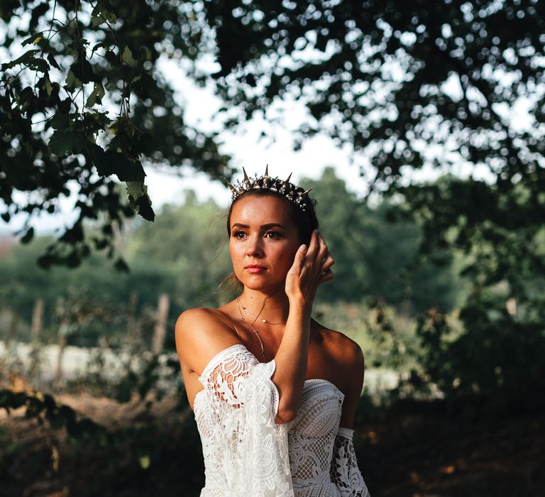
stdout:
<svg viewBox="0 0 545 497">
<path fill-rule="evenodd" d="M 278 425 L 275 361 L 245 346 L 216 354 L 193 410 L 206 482 L 201 497 L 368 496 L 353 430 L 339 427 L 344 395 L 326 380 L 304 382 L 295 419 Z"/>
</svg>

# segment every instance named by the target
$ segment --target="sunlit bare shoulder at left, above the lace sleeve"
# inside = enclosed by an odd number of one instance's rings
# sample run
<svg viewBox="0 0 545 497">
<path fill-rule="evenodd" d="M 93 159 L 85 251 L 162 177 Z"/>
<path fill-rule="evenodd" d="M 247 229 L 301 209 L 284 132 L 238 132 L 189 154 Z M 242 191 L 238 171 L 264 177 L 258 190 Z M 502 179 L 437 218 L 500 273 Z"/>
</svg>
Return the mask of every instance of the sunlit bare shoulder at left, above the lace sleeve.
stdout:
<svg viewBox="0 0 545 497">
<path fill-rule="evenodd" d="M 197 307 L 182 312 L 175 325 L 176 350 L 182 371 L 201 373 L 210 359 L 241 341 L 221 311 Z"/>
</svg>

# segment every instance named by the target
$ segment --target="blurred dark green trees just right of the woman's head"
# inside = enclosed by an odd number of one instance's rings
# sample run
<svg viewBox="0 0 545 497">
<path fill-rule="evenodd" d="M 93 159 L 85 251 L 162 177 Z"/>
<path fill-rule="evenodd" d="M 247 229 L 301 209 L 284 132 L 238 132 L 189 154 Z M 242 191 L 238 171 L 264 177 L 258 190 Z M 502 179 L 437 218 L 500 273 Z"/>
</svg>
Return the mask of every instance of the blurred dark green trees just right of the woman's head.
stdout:
<svg viewBox="0 0 545 497">
<path fill-rule="evenodd" d="M 303 180 L 302 186 L 314 187 L 319 229 L 336 260 L 335 278 L 320 289 L 319 300 L 371 298 L 411 313 L 431 306 L 451 310 L 459 303 L 463 281 L 456 268 L 419 258 L 422 229 L 413 220 L 389 222 L 390 202 L 373 208 L 362 204 L 333 168 L 319 180 Z"/>
</svg>

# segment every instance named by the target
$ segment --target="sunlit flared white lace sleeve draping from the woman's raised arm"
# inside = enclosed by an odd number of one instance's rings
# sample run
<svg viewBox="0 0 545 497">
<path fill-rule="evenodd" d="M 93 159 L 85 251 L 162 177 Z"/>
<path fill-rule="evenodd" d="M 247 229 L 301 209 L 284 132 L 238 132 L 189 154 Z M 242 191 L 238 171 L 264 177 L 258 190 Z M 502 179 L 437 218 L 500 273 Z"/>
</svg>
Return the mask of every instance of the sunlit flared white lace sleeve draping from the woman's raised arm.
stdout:
<svg viewBox="0 0 545 497">
<path fill-rule="evenodd" d="M 276 425 L 278 391 L 271 381 L 275 361 L 260 364 L 243 345 L 216 356 L 199 380 L 205 399 L 199 425 L 210 480 L 221 495 L 293 496 L 287 425 Z M 200 401 L 200 400 L 199 400 Z M 208 468 L 214 466 L 214 475 Z M 214 486 L 216 486 L 214 485 Z M 220 488 L 218 488 L 220 490 Z"/>
</svg>

